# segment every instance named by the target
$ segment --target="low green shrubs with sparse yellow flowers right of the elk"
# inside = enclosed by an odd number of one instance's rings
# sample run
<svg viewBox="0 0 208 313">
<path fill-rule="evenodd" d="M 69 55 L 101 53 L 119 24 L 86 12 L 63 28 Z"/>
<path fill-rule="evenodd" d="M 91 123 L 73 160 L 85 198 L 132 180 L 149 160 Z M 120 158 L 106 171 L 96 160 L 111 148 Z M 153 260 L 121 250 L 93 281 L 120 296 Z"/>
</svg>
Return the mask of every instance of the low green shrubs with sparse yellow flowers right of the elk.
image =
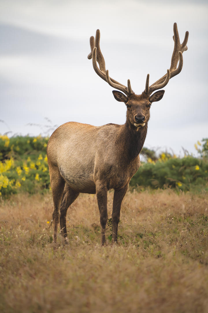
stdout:
<svg viewBox="0 0 208 313">
<path fill-rule="evenodd" d="M 131 179 L 131 186 L 172 187 L 183 191 L 202 188 L 208 182 L 208 160 L 193 156 L 144 163 Z"/>
</svg>

